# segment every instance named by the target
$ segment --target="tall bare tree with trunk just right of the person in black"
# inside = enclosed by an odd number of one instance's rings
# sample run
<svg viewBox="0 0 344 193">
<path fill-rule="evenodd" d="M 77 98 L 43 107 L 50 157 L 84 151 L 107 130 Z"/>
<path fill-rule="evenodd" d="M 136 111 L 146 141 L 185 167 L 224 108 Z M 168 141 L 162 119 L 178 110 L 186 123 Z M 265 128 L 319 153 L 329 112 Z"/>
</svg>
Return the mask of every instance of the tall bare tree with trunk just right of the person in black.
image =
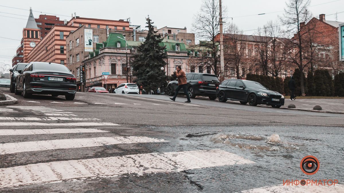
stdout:
<svg viewBox="0 0 344 193">
<path fill-rule="evenodd" d="M 307 34 L 310 29 L 304 29 L 303 26 L 311 18 L 311 14 L 307 9 L 309 4 L 310 0 L 289 0 L 289 2 L 286 3 L 287 8 L 284 9 L 283 17 L 280 18 L 281 22 L 287 25 L 286 32 L 294 34 L 294 37 L 288 44 L 292 50 L 292 52 L 289 52 L 289 55 L 292 63 L 297 65 L 302 73 L 305 66 L 308 65 L 307 62 L 303 61 L 305 58 L 303 36 Z M 301 94 L 304 96 L 303 75 L 300 77 Z"/>
</svg>

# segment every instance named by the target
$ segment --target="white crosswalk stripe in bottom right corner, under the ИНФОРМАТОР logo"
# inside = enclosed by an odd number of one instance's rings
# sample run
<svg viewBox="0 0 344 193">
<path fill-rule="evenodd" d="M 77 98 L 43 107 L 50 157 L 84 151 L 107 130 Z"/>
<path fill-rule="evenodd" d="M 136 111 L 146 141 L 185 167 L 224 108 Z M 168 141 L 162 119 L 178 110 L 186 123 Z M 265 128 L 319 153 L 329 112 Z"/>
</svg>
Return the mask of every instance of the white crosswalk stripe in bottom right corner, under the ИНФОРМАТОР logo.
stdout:
<svg viewBox="0 0 344 193">
<path fill-rule="evenodd" d="M 283 193 L 283 192 L 293 192 L 293 193 L 304 193 L 304 192 L 343 192 L 344 185 L 343 184 L 336 184 L 332 186 L 327 185 L 276 185 L 276 186 L 266 186 L 262 188 L 255 188 L 251 190 L 245 190 L 241 192 L 250 192 L 250 193 L 264 193 L 264 192 L 273 192 L 273 193 Z"/>
</svg>

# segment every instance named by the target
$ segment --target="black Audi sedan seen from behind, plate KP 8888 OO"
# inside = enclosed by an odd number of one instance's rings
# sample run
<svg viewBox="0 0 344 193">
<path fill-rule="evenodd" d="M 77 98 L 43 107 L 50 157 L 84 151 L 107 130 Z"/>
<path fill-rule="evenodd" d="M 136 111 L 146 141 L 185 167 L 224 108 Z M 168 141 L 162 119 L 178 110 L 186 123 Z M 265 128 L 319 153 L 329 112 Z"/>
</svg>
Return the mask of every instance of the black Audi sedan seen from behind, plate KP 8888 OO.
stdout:
<svg viewBox="0 0 344 193">
<path fill-rule="evenodd" d="M 31 94 L 65 95 L 66 100 L 74 100 L 76 78 L 64 65 L 31 62 L 18 72 L 14 94 L 23 93 L 24 98 Z"/>
</svg>

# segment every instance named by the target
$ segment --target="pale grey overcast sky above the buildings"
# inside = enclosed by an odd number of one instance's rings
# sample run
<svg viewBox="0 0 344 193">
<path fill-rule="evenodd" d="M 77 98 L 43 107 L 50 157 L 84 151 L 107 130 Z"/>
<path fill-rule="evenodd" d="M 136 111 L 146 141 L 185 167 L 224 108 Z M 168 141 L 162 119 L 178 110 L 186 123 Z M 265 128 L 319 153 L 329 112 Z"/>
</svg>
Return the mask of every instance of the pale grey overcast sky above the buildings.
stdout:
<svg viewBox="0 0 344 193">
<path fill-rule="evenodd" d="M 222 0 L 222 2 L 227 7 L 225 14 L 233 17 L 233 20 L 227 19 L 227 22 L 235 23 L 244 31 L 257 29 L 269 20 L 278 20 L 278 15 L 283 14 L 285 7 L 285 0 Z M 2 0 L 0 5 L 25 9 L 0 6 L 0 37 L 20 40 L 30 7 L 34 11 L 35 18 L 38 18 L 39 12 L 46 12 L 58 15 L 60 20 L 70 20 L 72 13 L 76 12 L 77 16 L 85 18 L 119 20 L 130 17 L 132 25 L 141 26 L 145 26 L 145 18 L 149 15 L 158 28 L 166 25 L 178 28 L 187 27 L 187 31 L 192 32 L 193 18 L 200 11 L 201 0 Z M 342 12 L 343 7 L 344 0 L 312 0 L 309 9 L 313 16 L 319 17 L 319 14 L 330 15 Z M 269 14 L 244 16 L 260 13 Z M 335 15 L 325 16 L 325 19 L 335 21 Z M 344 13 L 337 14 L 337 21 L 344 22 Z M 245 32 L 249 35 L 253 33 L 254 31 Z M 12 57 L 19 44 L 20 41 L 0 38 L 0 64 L 12 64 Z"/>
</svg>

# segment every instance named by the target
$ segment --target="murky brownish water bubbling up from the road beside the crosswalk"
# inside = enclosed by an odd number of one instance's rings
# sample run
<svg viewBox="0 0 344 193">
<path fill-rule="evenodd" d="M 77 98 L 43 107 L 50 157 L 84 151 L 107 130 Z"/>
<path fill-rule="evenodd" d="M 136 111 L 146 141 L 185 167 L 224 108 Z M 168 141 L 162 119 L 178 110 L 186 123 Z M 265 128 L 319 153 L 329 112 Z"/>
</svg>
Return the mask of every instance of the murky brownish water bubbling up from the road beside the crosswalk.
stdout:
<svg viewBox="0 0 344 193">
<path fill-rule="evenodd" d="M 247 134 L 216 134 L 211 138 L 211 141 L 238 147 L 242 150 L 290 151 L 299 149 L 297 144 L 281 141 L 278 134 L 272 134 L 269 137 Z"/>
</svg>

